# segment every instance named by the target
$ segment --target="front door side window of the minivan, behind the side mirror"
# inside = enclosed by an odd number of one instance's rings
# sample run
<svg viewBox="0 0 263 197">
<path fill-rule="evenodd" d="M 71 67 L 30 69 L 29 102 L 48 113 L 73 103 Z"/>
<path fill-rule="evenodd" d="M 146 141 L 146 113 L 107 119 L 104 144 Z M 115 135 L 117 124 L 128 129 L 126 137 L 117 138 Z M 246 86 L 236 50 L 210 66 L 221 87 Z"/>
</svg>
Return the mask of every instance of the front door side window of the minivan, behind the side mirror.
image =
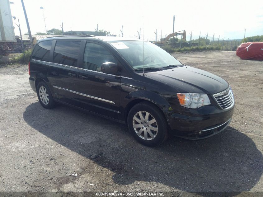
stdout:
<svg viewBox="0 0 263 197">
<path fill-rule="evenodd" d="M 103 46 L 87 43 L 84 52 L 83 68 L 101 72 L 101 64 L 105 62 L 117 64 L 115 58 Z"/>
</svg>

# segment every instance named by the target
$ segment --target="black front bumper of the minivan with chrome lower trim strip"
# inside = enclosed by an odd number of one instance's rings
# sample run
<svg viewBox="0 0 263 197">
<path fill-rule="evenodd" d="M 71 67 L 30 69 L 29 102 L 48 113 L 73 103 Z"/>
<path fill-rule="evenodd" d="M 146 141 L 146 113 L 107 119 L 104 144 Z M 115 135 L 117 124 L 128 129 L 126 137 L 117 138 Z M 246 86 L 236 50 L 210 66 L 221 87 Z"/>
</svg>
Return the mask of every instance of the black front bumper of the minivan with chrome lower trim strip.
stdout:
<svg viewBox="0 0 263 197">
<path fill-rule="evenodd" d="M 207 112 L 207 110 L 205 111 Z M 230 124 L 234 107 L 229 110 L 218 109 L 213 112 L 196 116 L 172 114 L 168 121 L 171 134 L 181 138 L 197 140 L 220 133 Z"/>
</svg>

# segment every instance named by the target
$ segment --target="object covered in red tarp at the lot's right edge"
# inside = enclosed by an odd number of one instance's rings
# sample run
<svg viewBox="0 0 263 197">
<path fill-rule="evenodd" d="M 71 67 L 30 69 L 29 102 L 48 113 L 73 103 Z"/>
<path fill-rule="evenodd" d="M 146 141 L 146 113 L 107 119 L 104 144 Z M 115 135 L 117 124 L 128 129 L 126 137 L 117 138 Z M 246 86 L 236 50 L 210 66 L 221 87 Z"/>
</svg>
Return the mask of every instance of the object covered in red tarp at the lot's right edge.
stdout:
<svg viewBox="0 0 263 197">
<path fill-rule="evenodd" d="M 237 47 L 236 54 L 241 59 L 263 60 L 263 42 L 246 42 Z"/>
</svg>

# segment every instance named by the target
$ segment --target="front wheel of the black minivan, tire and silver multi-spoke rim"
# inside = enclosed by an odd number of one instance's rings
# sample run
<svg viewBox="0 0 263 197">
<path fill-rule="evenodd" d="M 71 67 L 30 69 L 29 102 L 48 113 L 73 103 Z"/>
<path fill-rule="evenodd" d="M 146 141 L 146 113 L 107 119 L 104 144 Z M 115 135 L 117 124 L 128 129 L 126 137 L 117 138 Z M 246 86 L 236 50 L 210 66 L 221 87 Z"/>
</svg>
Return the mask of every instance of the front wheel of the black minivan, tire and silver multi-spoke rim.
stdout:
<svg viewBox="0 0 263 197">
<path fill-rule="evenodd" d="M 141 121 L 142 119 L 143 121 Z M 166 117 L 162 110 L 154 104 L 141 102 L 133 106 L 129 111 L 127 124 L 134 138 L 143 145 L 153 147 L 167 139 L 168 127 Z M 145 134 L 147 140 L 144 137 Z"/>
</svg>

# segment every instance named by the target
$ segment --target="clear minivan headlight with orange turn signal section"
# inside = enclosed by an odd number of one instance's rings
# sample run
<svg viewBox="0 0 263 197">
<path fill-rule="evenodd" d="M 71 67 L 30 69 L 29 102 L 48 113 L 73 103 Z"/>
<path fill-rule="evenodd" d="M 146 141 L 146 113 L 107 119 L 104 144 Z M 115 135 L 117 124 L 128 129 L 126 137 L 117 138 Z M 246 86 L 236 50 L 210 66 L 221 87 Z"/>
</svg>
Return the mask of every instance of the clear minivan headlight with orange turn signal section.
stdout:
<svg viewBox="0 0 263 197">
<path fill-rule="evenodd" d="M 206 94 L 177 93 L 181 106 L 188 108 L 198 108 L 210 105 L 210 100 Z"/>
</svg>

